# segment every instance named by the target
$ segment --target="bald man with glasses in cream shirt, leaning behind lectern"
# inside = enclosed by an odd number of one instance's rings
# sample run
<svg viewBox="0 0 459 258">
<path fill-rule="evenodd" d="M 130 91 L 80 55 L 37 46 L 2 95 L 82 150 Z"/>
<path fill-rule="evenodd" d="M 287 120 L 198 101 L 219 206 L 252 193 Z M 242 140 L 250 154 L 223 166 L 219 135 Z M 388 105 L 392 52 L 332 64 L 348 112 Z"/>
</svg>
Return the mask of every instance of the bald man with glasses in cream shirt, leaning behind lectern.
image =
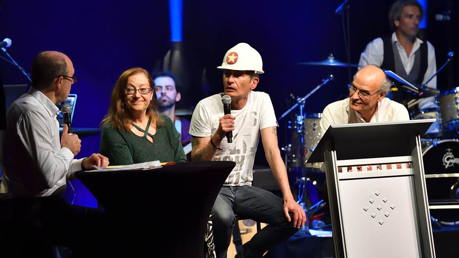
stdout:
<svg viewBox="0 0 459 258">
<path fill-rule="evenodd" d="M 320 120 L 322 134 L 332 124 L 410 120 L 402 104 L 384 98 L 389 91 L 390 81 L 380 68 L 362 68 L 348 88 L 349 98 L 325 107 Z"/>
</svg>

